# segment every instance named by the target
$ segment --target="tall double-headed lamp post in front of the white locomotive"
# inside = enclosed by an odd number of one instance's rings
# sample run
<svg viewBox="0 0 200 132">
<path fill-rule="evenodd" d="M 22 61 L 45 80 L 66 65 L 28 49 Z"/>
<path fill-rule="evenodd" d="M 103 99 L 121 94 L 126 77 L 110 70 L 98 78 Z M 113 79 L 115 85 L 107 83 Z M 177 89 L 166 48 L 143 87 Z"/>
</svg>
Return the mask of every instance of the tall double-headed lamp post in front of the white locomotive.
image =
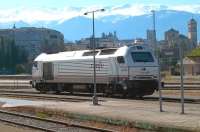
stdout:
<svg viewBox="0 0 200 132">
<path fill-rule="evenodd" d="M 94 70 L 94 74 L 93 74 L 93 85 L 94 85 L 94 93 L 93 93 L 93 97 L 92 97 L 92 102 L 93 105 L 98 105 L 98 98 L 97 98 L 97 88 L 96 88 L 96 61 L 95 61 L 95 49 L 96 49 L 96 44 L 95 44 L 95 32 L 94 32 L 94 13 L 95 12 L 103 12 L 105 11 L 105 9 L 97 9 L 97 10 L 93 10 L 93 11 L 89 11 L 89 12 L 85 12 L 84 15 L 88 15 L 90 13 L 92 13 L 92 44 L 93 44 L 93 70 Z"/>
</svg>

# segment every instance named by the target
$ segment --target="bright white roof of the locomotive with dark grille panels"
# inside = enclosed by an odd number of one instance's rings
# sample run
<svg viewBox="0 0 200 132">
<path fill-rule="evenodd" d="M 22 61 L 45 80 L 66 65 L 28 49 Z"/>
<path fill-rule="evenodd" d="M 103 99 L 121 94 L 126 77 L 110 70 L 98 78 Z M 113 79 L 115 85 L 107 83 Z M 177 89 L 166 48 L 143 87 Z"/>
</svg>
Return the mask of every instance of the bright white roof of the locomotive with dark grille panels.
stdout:
<svg viewBox="0 0 200 132">
<path fill-rule="evenodd" d="M 128 46 L 123 46 L 120 48 L 107 48 L 107 49 L 96 49 L 96 58 L 108 58 L 125 56 Z M 42 53 L 35 58 L 34 61 L 61 61 L 61 60 L 71 60 L 71 59 L 92 59 L 92 50 L 79 50 L 79 51 L 65 51 L 55 54 Z"/>
</svg>

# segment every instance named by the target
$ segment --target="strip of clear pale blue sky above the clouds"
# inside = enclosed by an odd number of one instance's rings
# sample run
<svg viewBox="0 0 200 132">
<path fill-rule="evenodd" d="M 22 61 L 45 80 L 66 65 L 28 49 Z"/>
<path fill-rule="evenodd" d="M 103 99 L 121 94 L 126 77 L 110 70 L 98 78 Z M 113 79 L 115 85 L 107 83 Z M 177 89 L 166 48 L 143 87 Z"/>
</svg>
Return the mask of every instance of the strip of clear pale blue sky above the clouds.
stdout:
<svg viewBox="0 0 200 132">
<path fill-rule="evenodd" d="M 71 7 L 88 7 L 93 5 L 115 6 L 125 4 L 162 4 L 162 5 L 178 5 L 178 4 L 200 4 L 199 0 L 2 0 L 0 8 L 13 7 L 50 7 L 63 8 Z"/>
</svg>

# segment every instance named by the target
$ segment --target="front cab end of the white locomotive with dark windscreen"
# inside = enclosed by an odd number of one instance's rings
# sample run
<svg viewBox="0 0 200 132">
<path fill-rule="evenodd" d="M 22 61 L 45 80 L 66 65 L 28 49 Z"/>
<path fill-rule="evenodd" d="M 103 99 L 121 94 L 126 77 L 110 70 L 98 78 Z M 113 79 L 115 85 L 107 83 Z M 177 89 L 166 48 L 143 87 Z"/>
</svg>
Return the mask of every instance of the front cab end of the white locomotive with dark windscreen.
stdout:
<svg viewBox="0 0 200 132">
<path fill-rule="evenodd" d="M 127 50 L 124 58 L 127 79 L 122 84 L 126 93 L 140 97 L 153 94 L 158 88 L 159 73 L 158 62 L 153 52 L 148 47 L 136 45 Z M 126 71 L 122 67 L 119 70 Z"/>
</svg>

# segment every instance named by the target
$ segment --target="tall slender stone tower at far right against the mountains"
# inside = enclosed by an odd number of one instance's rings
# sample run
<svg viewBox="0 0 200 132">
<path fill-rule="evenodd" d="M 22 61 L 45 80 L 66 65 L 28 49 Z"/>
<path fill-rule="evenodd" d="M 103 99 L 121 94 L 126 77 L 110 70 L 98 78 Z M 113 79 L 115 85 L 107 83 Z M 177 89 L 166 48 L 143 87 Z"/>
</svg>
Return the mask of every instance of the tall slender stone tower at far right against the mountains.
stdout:
<svg viewBox="0 0 200 132">
<path fill-rule="evenodd" d="M 192 47 L 195 48 L 197 46 L 197 22 L 193 18 L 188 22 L 188 38 Z"/>
</svg>

